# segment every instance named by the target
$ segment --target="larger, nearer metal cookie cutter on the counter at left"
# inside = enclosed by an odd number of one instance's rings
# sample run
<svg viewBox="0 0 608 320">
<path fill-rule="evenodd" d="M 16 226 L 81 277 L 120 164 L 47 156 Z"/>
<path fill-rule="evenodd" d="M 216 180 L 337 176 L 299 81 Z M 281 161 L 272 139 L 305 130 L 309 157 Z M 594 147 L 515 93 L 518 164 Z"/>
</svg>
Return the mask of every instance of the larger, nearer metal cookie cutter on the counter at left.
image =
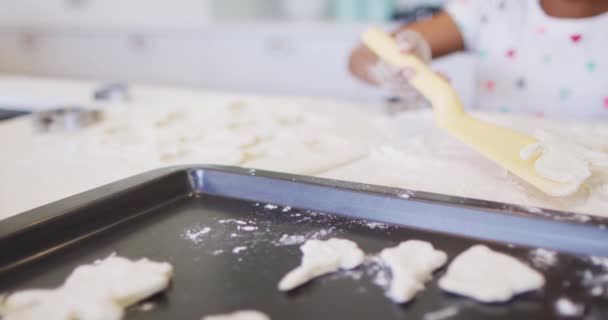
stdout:
<svg viewBox="0 0 608 320">
<path fill-rule="evenodd" d="M 36 112 L 32 118 L 36 129 L 49 132 L 85 128 L 100 121 L 102 116 L 100 110 L 64 107 Z"/>
</svg>

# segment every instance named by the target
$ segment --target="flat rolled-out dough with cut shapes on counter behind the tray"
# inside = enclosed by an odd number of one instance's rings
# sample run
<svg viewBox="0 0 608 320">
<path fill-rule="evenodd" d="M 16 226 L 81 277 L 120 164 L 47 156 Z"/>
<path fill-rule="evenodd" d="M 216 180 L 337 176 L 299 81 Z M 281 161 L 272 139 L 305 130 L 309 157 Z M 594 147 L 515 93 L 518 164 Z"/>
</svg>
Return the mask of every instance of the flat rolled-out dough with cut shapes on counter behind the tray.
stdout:
<svg viewBox="0 0 608 320">
<path fill-rule="evenodd" d="M 138 171 L 138 162 L 146 159 L 151 167 L 217 163 L 307 174 L 365 154 L 367 144 L 378 138 L 358 112 L 335 103 L 331 104 L 342 110 L 341 115 L 312 111 L 293 99 L 247 100 L 238 112 L 226 102 L 205 108 L 136 104 L 128 110 L 110 110 L 98 127 L 86 130 L 78 140 L 85 154 L 118 155 Z M 345 114 L 348 126 L 340 121 Z M 353 122 L 368 134 L 353 131 Z M 292 154 L 298 155 L 295 161 Z M 255 169 L 247 173 L 256 175 Z"/>
</svg>

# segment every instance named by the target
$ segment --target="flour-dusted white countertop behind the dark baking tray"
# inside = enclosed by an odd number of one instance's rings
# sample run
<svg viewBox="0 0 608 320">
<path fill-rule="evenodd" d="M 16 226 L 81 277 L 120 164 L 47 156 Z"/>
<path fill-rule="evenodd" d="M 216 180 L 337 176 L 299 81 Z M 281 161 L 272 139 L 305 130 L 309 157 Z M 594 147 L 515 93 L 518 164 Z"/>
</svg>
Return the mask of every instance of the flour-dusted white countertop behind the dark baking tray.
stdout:
<svg viewBox="0 0 608 320">
<path fill-rule="evenodd" d="M 0 123 L 0 219 L 174 164 L 241 165 L 412 190 L 606 215 L 603 194 L 554 199 L 448 137 L 429 111 L 397 118 L 332 101 L 133 86 L 127 103 L 96 104 L 98 84 L 0 78 L 0 105 L 80 103 L 106 111 L 77 132 L 42 134 L 29 117 Z M 377 107 L 369 106 L 369 109 Z M 523 131 L 602 130 L 490 116 Z"/>
</svg>

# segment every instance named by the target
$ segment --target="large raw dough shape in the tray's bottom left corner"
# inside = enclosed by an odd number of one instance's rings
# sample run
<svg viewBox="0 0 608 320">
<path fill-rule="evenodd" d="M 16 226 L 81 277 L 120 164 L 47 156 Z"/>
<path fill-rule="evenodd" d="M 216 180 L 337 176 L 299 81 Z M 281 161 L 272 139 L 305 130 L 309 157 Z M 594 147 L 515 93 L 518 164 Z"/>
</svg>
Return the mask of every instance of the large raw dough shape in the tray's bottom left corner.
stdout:
<svg viewBox="0 0 608 320">
<path fill-rule="evenodd" d="M 32 289 L 8 296 L 0 304 L 4 320 L 114 320 L 124 308 L 167 288 L 173 267 L 148 259 L 110 256 L 79 266 L 56 289 Z"/>
</svg>

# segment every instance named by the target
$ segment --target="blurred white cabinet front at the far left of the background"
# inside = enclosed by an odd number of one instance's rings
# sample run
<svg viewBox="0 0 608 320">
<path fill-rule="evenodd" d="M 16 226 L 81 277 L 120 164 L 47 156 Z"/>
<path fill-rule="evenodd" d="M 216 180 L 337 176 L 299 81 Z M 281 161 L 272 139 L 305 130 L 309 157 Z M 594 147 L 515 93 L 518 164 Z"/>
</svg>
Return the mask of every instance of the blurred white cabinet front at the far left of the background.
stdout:
<svg viewBox="0 0 608 320">
<path fill-rule="evenodd" d="M 192 85 L 203 52 L 187 36 L 0 34 L 0 69 L 9 73 Z"/>
</svg>

